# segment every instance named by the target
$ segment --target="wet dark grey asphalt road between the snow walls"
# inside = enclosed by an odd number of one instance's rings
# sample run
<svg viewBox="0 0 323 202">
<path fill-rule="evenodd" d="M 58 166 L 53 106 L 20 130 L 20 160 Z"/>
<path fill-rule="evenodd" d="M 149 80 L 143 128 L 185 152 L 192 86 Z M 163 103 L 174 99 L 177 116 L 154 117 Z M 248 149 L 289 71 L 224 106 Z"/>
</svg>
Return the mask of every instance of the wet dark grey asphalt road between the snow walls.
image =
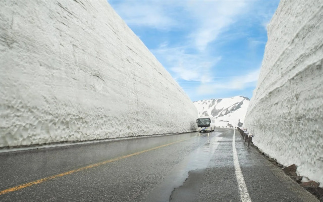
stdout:
<svg viewBox="0 0 323 202">
<path fill-rule="evenodd" d="M 217 128 L 0 153 L 0 193 L 46 179 L 1 194 L 0 201 L 242 201 L 233 134 Z M 318 201 L 244 145 L 238 132 L 235 148 L 251 201 Z"/>
</svg>

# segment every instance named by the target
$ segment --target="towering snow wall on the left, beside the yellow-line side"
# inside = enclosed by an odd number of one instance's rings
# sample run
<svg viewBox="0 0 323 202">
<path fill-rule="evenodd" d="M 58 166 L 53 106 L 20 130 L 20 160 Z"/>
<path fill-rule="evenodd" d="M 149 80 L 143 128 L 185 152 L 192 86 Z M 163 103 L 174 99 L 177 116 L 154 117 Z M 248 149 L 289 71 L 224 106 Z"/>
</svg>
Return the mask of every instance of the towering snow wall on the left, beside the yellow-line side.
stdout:
<svg viewBox="0 0 323 202">
<path fill-rule="evenodd" d="M 0 2 L 0 147 L 196 131 L 182 88 L 105 0 Z"/>
</svg>

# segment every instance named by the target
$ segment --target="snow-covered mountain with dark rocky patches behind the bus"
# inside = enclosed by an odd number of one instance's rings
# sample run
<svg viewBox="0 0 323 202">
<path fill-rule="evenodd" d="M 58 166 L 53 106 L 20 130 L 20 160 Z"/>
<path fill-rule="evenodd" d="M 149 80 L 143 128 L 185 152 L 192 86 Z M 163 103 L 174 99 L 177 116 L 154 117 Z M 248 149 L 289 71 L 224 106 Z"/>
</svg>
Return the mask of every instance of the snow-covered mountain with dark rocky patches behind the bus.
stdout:
<svg viewBox="0 0 323 202">
<path fill-rule="evenodd" d="M 249 106 L 250 99 L 243 96 L 235 96 L 222 99 L 204 99 L 193 102 L 199 117 L 213 117 L 217 127 L 239 126 L 244 123 L 244 117 Z"/>
</svg>

